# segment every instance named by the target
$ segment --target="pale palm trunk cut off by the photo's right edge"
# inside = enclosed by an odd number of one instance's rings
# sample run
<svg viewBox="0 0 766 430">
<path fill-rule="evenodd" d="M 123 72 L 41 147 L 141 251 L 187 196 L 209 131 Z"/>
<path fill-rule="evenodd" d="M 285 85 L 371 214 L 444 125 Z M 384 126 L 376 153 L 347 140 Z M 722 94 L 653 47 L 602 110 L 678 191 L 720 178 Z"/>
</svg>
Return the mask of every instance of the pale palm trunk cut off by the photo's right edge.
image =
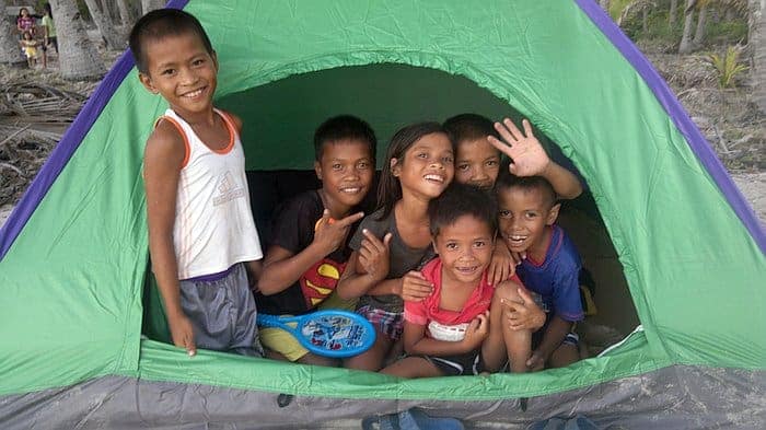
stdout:
<svg viewBox="0 0 766 430">
<path fill-rule="evenodd" d="M 766 5 L 763 0 L 750 0 L 748 7 L 747 46 L 753 56 L 752 100 L 766 114 Z"/>
</svg>

